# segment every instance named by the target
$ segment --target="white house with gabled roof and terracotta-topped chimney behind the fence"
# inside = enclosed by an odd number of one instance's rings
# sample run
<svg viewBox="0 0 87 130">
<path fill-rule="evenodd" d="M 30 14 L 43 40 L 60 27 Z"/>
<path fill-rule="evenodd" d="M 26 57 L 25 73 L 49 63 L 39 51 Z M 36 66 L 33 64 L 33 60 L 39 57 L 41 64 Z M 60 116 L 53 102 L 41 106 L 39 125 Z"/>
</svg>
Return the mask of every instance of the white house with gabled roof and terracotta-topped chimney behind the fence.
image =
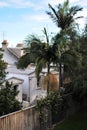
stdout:
<svg viewBox="0 0 87 130">
<path fill-rule="evenodd" d="M 30 104 L 34 103 L 37 98 L 46 96 L 46 90 L 42 90 L 37 85 L 37 79 L 35 76 L 35 67 L 28 67 L 27 69 L 17 69 L 16 63 L 18 59 L 23 55 L 23 45 L 18 44 L 15 48 L 8 48 L 8 42 L 4 40 L 2 42 L 3 60 L 8 63 L 6 79 L 18 86 L 20 91 L 18 100 L 28 101 Z M 43 76 L 47 70 L 43 70 L 41 76 Z M 22 93 L 22 94 L 21 94 Z M 22 95 L 22 98 L 21 98 Z"/>
</svg>

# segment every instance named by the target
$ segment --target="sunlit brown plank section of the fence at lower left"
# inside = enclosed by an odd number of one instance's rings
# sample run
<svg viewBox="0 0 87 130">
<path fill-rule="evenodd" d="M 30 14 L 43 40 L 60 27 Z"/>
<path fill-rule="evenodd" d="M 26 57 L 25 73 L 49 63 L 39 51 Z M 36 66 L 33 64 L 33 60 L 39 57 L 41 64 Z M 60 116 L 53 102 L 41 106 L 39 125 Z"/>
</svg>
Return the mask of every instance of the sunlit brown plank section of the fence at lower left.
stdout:
<svg viewBox="0 0 87 130">
<path fill-rule="evenodd" d="M 35 107 L 0 117 L 0 130 L 40 130 L 39 115 Z"/>
</svg>

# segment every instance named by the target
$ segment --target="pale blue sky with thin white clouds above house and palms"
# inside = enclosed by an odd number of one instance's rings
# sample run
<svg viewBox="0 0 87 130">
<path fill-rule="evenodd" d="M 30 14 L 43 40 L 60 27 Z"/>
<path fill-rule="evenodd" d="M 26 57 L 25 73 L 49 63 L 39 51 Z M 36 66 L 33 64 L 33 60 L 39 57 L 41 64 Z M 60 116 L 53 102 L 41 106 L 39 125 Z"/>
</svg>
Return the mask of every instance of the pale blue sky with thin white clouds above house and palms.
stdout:
<svg viewBox="0 0 87 130">
<path fill-rule="evenodd" d="M 46 11 L 48 3 L 53 7 L 64 0 L 0 0 L 0 42 L 7 39 L 10 47 L 23 42 L 28 34 L 41 34 L 44 27 L 48 32 L 58 30 Z M 70 0 L 70 5 L 79 5 L 83 11 L 79 15 L 87 17 L 87 0 Z M 79 21 L 80 26 L 84 20 Z"/>
</svg>

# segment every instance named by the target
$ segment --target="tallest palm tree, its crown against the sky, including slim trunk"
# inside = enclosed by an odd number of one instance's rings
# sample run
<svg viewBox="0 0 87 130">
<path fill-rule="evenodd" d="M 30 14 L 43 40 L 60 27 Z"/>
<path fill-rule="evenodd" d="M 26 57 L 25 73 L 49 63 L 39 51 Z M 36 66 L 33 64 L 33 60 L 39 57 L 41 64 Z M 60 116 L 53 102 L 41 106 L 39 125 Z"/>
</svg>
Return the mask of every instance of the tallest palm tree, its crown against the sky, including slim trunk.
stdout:
<svg viewBox="0 0 87 130">
<path fill-rule="evenodd" d="M 69 1 L 66 0 L 63 5 L 59 4 L 57 10 L 55 10 L 50 4 L 48 4 L 50 12 L 47 11 L 47 14 L 51 17 L 53 22 L 60 28 L 60 33 L 56 35 L 55 38 L 55 47 L 56 53 L 58 55 L 59 63 L 59 87 L 62 87 L 62 55 L 70 49 L 71 39 L 67 35 L 75 26 L 75 20 L 80 17 L 75 17 L 78 11 L 81 11 L 82 8 L 78 6 L 69 7 Z M 63 56 L 64 57 L 64 56 Z"/>
</svg>

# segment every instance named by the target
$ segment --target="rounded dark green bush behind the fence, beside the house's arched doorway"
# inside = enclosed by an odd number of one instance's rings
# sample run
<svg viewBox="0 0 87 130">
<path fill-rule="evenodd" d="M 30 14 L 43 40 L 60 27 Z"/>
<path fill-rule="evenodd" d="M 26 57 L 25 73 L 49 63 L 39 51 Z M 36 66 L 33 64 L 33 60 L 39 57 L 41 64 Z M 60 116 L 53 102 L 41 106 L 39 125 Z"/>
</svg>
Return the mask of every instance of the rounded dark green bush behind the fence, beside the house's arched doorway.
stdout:
<svg viewBox="0 0 87 130">
<path fill-rule="evenodd" d="M 0 116 L 20 110 L 22 105 L 16 100 L 18 92 L 14 90 L 13 85 L 6 81 L 0 89 Z"/>
</svg>

